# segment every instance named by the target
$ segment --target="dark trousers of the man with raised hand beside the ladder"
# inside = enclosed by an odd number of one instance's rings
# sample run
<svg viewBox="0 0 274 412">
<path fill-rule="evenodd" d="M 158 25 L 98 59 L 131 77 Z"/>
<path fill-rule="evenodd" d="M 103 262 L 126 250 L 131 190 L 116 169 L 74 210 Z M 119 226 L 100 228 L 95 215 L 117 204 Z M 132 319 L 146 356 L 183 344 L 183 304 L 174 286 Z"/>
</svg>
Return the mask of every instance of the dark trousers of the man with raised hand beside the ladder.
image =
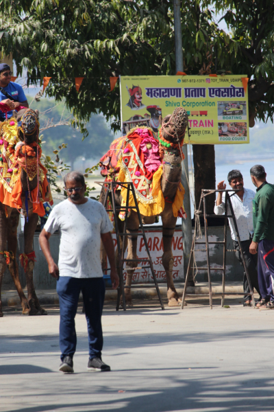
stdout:
<svg viewBox="0 0 274 412">
<path fill-rule="evenodd" d="M 245 265 L 247 266 L 247 271 L 249 273 L 249 279 L 250 279 L 250 282 L 251 282 L 251 286 L 253 288 L 256 288 L 258 294 L 261 296 L 259 282 L 258 282 L 258 272 L 257 272 L 257 269 L 256 269 L 258 255 L 257 255 L 257 253 L 256 253 L 256 255 L 251 255 L 251 253 L 249 252 L 249 246 L 250 246 L 251 242 L 252 242 L 252 239 L 249 239 L 249 240 L 242 240 L 240 243 L 242 244 L 242 253 L 243 253 L 244 258 L 245 258 Z M 234 240 L 234 247 L 236 249 L 236 257 L 242 263 L 239 244 L 235 240 Z M 244 286 L 244 292 L 249 293 L 250 292 L 249 284 L 247 282 L 247 274 L 245 273 L 245 271 L 244 271 L 244 285 L 243 286 Z M 245 295 L 244 301 L 248 301 L 250 299 L 251 299 L 250 295 Z"/>
</svg>

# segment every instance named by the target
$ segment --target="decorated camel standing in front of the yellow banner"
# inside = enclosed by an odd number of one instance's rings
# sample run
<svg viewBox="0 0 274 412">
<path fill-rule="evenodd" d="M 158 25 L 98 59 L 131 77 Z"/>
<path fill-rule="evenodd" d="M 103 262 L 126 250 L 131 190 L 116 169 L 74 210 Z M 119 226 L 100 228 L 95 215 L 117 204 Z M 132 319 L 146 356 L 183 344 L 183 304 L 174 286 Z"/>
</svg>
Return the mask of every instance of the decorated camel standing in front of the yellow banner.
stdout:
<svg viewBox="0 0 274 412">
<path fill-rule="evenodd" d="M 110 150 L 101 158 L 101 174 L 106 181 L 131 181 L 134 183 L 138 207 L 142 222 L 152 224 L 156 216 L 162 218 L 163 249 L 162 264 L 166 272 L 167 297 L 169 306 L 178 306 L 179 296 L 173 282 L 172 240 L 178 217 L 186 218 L 184 211 L 184 187 L 181 183 L 182 145 L 188 125 L 188 116 L 184 108 L 176 108 L 172 115 L 162 121 L 158 137 L 155 139 L 150 128 L 136 127 L 112 142 Z M 101 192 L 100 201 L 104 201 L 105 190 Z M 117 205 L 125 205 L 127 189 L 116 190 Z M 129 196 L 129 206 L 134 206 L 133 195 Z M 123 220 L 125 216 L 119 215 Z M 137 212 L 132 209 L 127 220 L 127 259 L 138 259 L 137 236 L 139 220 Z M 103 264 L 102 258 L 102 264 Z M 125 300 L 132 306 L 130 286 L 137 262 L 127 262 Z"/>
</svg>

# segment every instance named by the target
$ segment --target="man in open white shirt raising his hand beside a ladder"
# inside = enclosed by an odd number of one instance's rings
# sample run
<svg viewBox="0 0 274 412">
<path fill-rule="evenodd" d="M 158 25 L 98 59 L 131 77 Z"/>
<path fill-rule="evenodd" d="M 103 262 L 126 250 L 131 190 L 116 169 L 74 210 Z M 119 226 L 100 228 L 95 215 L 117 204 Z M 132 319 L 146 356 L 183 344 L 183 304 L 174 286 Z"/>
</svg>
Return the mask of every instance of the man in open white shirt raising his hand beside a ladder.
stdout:
<svg viewBox="0 0 274 412">
<path fill-rule="evenodd" d="M 252 242 L 253 237 L 253 198 L 255 197 L 255 192 L 250 189 L 245 189 L 244 181 L 242 179 L 242 174 L 240 170 L 232 170 L 227 175 L 227 180 L 229 186 L 232 187 L 233 190 L 239 190 L 235 194 L 232 194 L 230 197 L 232 201 L 232 207 L 234 210 L 238 232 L 240 236 L 240 242 L 242 244 L 242 253 L 245 258 L 245 264 L 247 266 L 247 271 L 249 273 L 249 279 L 251 282 L 252 288 L 256 288 L 257 292 L 260 295 L 260 289 L 258 284 L 258 272 L 256 269 L 257 266 L 257 255 L 251 255 L 249 252 L 249 246 Z M 221 181 L 217 185 L 217 189 L 225 190 L 226 185 L 224 181 Z M 225 213 L 225 193 L 219 192 L 216 204 L 214 207 L 214 214 L 221 215 Z M 229 208 L 227 209 L 227 213 L 230 214 Z M 237 240 L 237 235 L 234 227 L 234 223 L 232 218 L 229 218 L 229 227 L 232 235 L 232 240 L 234 241 L 234 249 L 236 249 L 236 257 L 241 262 L 241 255 L 239 244 Z M 247 275 L 244 272 L 244 280 L 243 280 L 243 287 L 244 292 L 249 293 L 249 284 L 247 282 Z M 261 296 L 260 296 L 261 299 Z M 251 306 L 251 297 L 249 295 L 245 295 L 244 297 L 244 306 Z"/>
</svg>

